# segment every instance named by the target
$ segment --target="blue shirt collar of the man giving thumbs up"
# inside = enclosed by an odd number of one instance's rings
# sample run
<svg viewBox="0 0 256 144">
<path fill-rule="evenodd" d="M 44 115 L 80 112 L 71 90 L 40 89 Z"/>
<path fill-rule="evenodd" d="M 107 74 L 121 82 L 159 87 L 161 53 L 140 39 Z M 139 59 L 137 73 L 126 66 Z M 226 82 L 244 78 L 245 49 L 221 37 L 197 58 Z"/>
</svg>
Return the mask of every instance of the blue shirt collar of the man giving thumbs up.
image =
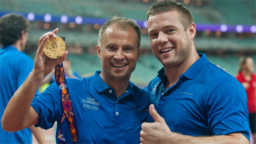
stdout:
<svg viewBox="0 0 256 144">
<path fill-rule="evenodd" d="M 198 55 L 200 56 L 200 58 L 195 63 L 193 63 L 191 65 L 191 67 L 189 67 L 187 69 L 187 71 L 185 73 L 182 74 L 185 77 L 187 77 L 188 79 L 195 79 L 195 77 L 198 75 L 198 73 L 201 71 L 201 69 L 204 67 L 204 65 L 209 61 L 206 58 L 205 54 L 199 53 Z M 161 80 L 163 80 L 163 77 L 166 77 L 164 68 L 162 68 L 162 69 L 160 69 L 160 71 L 158 71 L 158 77 Z"/>
</svg>

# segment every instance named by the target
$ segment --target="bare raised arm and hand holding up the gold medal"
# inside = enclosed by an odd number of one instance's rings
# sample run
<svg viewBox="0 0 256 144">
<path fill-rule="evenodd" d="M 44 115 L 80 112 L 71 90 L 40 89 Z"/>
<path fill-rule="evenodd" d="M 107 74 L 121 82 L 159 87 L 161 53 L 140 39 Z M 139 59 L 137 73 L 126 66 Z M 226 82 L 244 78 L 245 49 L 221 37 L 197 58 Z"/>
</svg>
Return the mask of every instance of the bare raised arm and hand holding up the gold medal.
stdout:
<svg viewBox="0 0 256 144">
<path fill-rule="evenodd" d="M 49 37 L 57 38 L 58 29 L 44 34 L 38 43 L 37 53 L 34 60 L 34 68 L 25 82 L 15 92 L 5 108 L 1 119 L 2 128 L 6 131 L 15 132 L 38 123 L 39 115 L 31 103 L 42 80 L 50 73 L 57 64 L 64 61 L 68 52 L 57 59 L 52 59 L 44 54 L 44 46 Z"/>
</svg>

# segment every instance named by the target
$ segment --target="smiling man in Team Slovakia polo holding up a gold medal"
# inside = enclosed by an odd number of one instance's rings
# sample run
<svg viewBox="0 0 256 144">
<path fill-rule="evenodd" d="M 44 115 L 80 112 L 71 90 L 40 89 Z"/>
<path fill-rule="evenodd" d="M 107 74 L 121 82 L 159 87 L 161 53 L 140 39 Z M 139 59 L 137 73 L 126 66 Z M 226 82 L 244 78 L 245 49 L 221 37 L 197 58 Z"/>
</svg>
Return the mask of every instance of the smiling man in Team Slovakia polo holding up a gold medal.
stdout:
<svg viewBox="0 0 256 144">
<path fill-rule="evenodd" d="M 14 132 L 31 125 L 49 129 L 57 121 L 56 136 L 64 136 L 67 143 L 140 143 L 150 97 L 129 81 L 140 57 L 140 27 L 131 19 L 111 18 L 99 30 L 101 71 L 79 80 L 65 80 L 57 71 L 57 84 L 34 97 L 42 80 L 68 54 L 63 50 L 59 58 L 45 55 L 44 47 L 52 39 L 48 51 L 56 52 L 57 32 L 39 39 L 33 71 L 8 103 L 1 120 L 3 129 Z"/>
</svg>

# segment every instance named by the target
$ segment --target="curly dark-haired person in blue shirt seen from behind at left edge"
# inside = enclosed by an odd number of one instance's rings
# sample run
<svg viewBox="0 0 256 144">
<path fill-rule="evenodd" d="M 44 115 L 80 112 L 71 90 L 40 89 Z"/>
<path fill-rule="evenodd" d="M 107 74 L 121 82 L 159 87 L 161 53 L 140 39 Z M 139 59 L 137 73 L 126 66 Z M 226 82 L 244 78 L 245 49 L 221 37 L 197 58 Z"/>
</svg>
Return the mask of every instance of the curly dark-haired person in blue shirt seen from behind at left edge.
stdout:
<svg viewBox="0 0 256 144">
<path fill-rule="evenodd" d="M 22 52 L 25 49 L 29 29 L 30 22 L 23 16 L 7 14 L 0 19 L 0 42 L 3 46 L 0 50 L 1 118 L 12 95 L 33 69 L 33 60 Z M 38 91 L 35 95 L 37 94 Z M 11 117 L 19 120 L 15 115 Z M 31 132 L 38 143 L 45 143 L 41 128 L 30 126 L 12 133 L 3 130 L 2 125 L 0 143 L 32 143 Z"/>
</svg>

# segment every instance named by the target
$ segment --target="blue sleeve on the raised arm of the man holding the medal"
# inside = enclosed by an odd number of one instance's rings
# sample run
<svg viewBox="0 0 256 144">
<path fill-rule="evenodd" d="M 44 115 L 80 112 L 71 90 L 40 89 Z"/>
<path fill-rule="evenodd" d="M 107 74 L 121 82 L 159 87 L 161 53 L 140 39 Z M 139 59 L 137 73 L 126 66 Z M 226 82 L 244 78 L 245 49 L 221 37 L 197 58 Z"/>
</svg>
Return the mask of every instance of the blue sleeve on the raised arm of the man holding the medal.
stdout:
<svg viewBox="0 0 256 144">
<path fill-rule="evenodd" d="M 61 112 L 63 112 L 61 105 L 59 88 L 53 83 L 33 99 L 31 106 L 39 114 L 38 125 L 35 126 L 49 129 L 55 121 L 61 121 Z"/>
</svg>

